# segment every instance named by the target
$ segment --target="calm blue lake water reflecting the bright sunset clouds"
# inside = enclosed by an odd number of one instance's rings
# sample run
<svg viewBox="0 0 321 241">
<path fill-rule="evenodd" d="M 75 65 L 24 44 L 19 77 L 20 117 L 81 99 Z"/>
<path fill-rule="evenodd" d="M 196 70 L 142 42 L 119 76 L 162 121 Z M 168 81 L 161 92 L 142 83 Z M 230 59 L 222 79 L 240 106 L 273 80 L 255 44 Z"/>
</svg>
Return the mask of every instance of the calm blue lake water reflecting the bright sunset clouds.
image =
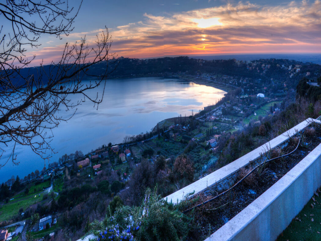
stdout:
<svg viewBox="0 0 321 241">
<path fill-rule="evenodd" d="M 102 87 L 91 90 L 95 96 Z M 107 81 L 103 102 L 98 110 L 89 101 L 78 106 L 72 119 L 61 122 L 53 130 L 51 146 L 57 154 L 51 161 L 58 161 L 64 154 L 81 150 L 84 154 L 103 144 L 121 143 L 126 135 L 137 135 L 150 131 L 159 121 L 167 118 L 189 116 L 202 110 L 209 104 L 216 103 L 226 92 L 204 85 L 178 79 L 131 78 L 110 79 Z M 73 96 L 73 100 L 81 96 Z M 64 112 L 70 116 L 72 112 Z M 9 152 L 9 151 L 8 151 Z M 3 164 L 9 153 L 4 153 Z M 35 169 L 39 171 L 45 161 L 32 152 L 30 147 L 16 147 L 19 165 L 8 162 L 0 169 L 0 183 L 12 175 L 23 178 Z M 48 165 L 48 161 L 46 163 Z"/>
</svg>

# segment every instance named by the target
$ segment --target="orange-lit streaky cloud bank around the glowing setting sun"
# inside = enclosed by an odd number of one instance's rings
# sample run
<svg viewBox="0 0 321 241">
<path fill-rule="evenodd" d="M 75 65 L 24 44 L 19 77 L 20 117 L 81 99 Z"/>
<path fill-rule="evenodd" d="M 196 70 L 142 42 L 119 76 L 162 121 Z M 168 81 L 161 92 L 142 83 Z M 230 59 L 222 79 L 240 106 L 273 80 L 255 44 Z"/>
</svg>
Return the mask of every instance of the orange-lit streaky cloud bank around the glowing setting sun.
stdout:
<svg viewBox="0 0 321 241">
<path fill-rule="evenodd" d="M 188 12 L 152 15 L 110 31 L 118 56 L 151 58 L 170 55 L 321 52 L 321 1 L 292 1 L 278 6 L 250 2 Z M 93 44 L 100 29 L 86 34 Z M 59 49 L 56 47 L 56 49 Z M 45 50 L 36 52 L 45 54 Z M 57 51 L 50 50 L 51 58 Z"/>
</svg>

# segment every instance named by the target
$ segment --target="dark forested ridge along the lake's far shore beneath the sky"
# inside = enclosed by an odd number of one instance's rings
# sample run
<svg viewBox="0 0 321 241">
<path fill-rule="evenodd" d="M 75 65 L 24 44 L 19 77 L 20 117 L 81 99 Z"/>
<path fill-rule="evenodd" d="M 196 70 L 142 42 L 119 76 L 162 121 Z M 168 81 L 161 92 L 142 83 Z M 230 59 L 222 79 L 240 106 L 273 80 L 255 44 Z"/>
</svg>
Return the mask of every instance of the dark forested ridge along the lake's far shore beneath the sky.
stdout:
<svg viewBox="0 0 321 241">
<path fill-rule="evenodd" d="M 289 67 L 291 66 L 291 69 Z M 41 73 L 51 73 L 56 76 L 57 67 L 50 65 L 40 67 L 24 68 L 21 70 L 22 76 L 41 76 Z M 141 77 L 141 76 L 172 76 L 172 75 L 192 75 L 197 76 L 203 73 L 238 76 L 243 78 L 260 79 L 262 82 L 270 82 L 271 79 L 290 79 L 291 73 L 294 75 L 305 75 L 307 72 L 310 79 L 317 79 L 321 73 L 321 66 L 312 63 L 302 63 L 288 59 L 259 59 L 253 61 L 229 60 L 203 60 L 188 57 L 176 58 L 117 58 L 109 60 L 108 69 L 111 71 L 109 78 Z M 299 71 L 297 71 L 299 69 Z M 84 78 L 90 75 L 101 75 L 106 70 L 106 62 L 101 62 L 86 69 Z M 84 75 L 85 75 L 84 74 Z M 46 75 L 42 80 L 46 82 Z M 299 78 L 301 79 L 301 77 Z M 291 83 L 291 81 L 290 81 Z M 293 86 L 295 88 L 295 86 Z"/>
</svg>

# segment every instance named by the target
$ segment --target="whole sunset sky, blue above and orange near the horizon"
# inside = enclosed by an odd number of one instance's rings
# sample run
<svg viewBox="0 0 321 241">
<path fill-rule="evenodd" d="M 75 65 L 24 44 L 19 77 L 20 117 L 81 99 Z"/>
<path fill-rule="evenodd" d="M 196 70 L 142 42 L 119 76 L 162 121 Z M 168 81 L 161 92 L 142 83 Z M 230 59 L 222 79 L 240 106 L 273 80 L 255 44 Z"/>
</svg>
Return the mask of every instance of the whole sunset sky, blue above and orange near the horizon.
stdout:
<svg viewBox="0 0 321 241">
<path fill-rule="evenodd" d="M 70 36 L 42 36 L 29 54 L 49 63 L 66 42 L 86 35 L 92 44 L 105 25 L 118 57 L 321 53 L 320 0 L 84 0 Z"/>
</svg>

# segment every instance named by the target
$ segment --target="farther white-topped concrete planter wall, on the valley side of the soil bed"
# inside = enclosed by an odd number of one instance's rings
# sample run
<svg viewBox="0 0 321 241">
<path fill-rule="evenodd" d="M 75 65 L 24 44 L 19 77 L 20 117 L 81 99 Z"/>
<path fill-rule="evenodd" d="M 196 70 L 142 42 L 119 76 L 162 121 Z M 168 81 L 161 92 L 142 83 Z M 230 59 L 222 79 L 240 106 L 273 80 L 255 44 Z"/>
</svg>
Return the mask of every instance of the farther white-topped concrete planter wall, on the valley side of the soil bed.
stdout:
<svg viewBox="0 0 321 241">
<path fill-rule="evenodd" d="M 247 153 L 246 155 L 240 157 L 239 159 L 231 162 L 230 164 L 216 170 L 215 172 L 208 174 L 207 176 L 197 180 L 194 183 L 174 192 L 164 199 L 167 201 L 172 201 L 173 203 L 178 203 L 183 198 L 191 192 L 195 194 L 199 192 L 205 192 L 207 187 L 215 186 L 216 190 L 221 190 L 229 187 L 229 183 L 234 181 L 234 174 L 242 167 L 246 167 L 250 164 L 251 161 L 255 161 L 260 157 L 261 153 L 265 153 L 268 149 L 273 149 L 279 145 L 282 145 L 284 142 L 289 140 L 289 137 L 294 136 L 297 132 L 303 130 L 306 126 L 309 125 L 314 119 L 307 119 L 302 121 L 295 127 L 284 132 L 282 135 L 270 140 L 264 145 L 256 148 L 255 150 Z M 233 181 L 231 180 L 233 179 Z"/>
</svg>

